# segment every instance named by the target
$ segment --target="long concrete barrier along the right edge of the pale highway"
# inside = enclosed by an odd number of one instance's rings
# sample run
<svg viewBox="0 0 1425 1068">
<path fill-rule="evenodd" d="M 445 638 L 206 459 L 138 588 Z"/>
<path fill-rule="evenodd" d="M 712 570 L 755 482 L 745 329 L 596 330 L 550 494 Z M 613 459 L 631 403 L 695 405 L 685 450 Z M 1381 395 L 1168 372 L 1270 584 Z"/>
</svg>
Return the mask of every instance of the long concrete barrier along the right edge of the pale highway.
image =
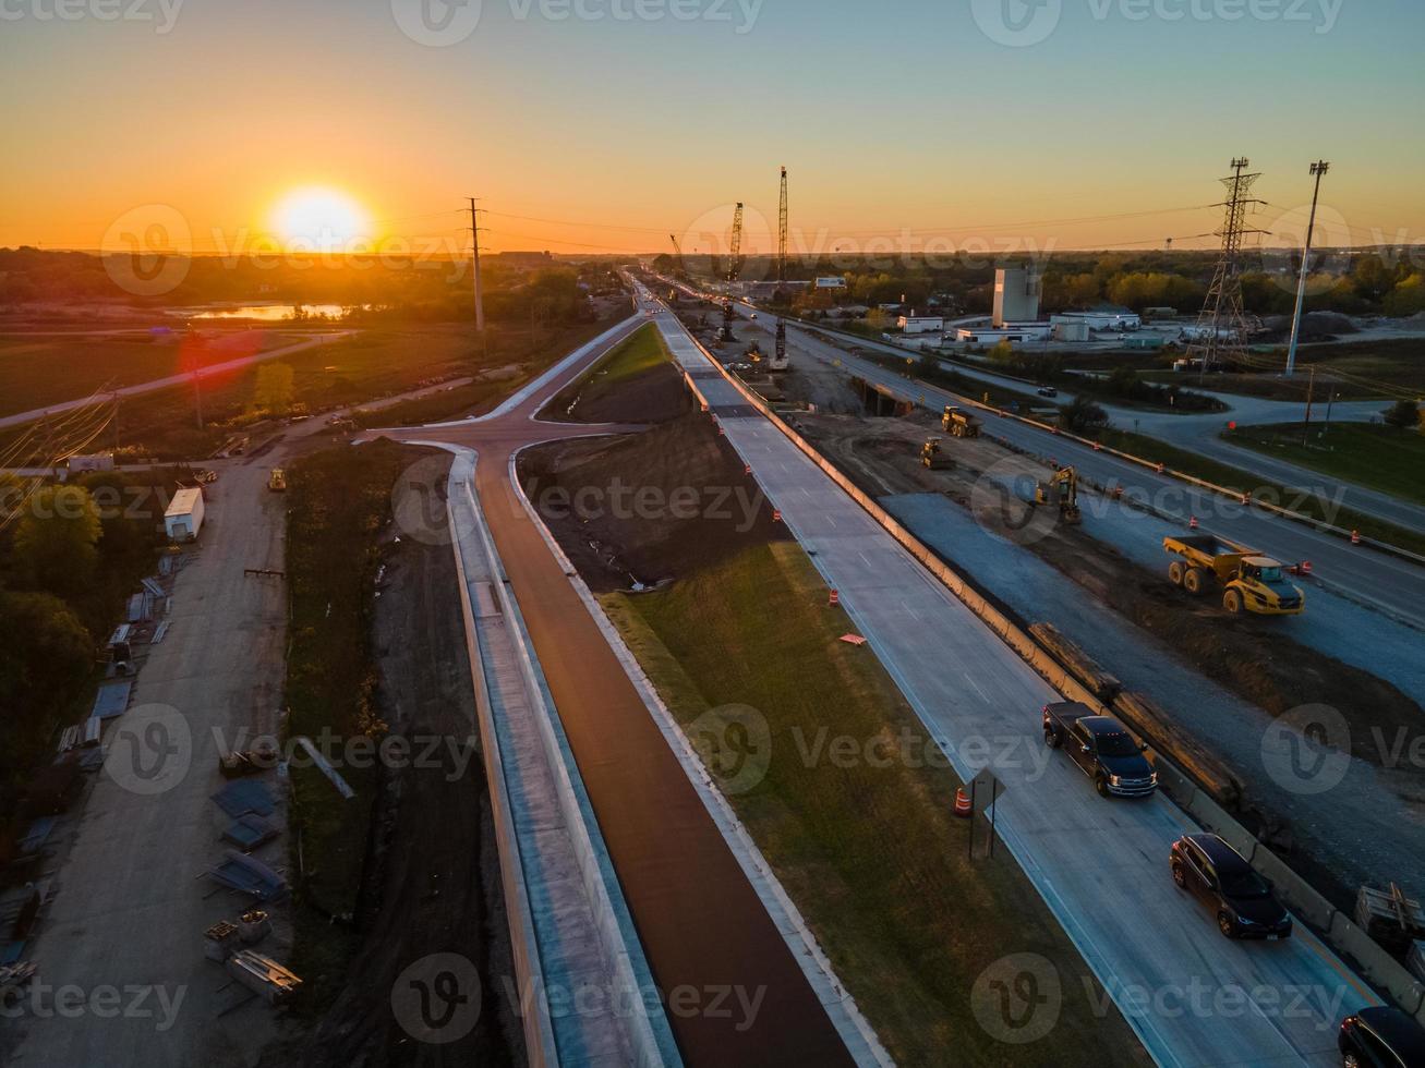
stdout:
<svg viewBox="0 0 1425 1068">
<path fill-rule="evenodd" d="M 871 515 L 896 543 L 906 550 L 922 567 L 935 575 L 955 597 L 965 604 L 976 617 L 985 622 L 999 638 L 1009 645 L 1020 658 L 1029 664 L 1050 686 L 1063 693 L 1070 701 L 1080 701 L 1099 715 L 1113 715 L 1079 679 L 1059 664 L 1047 649 L 1039 645 L 1026 631 L 1020 629 L 1009 617 L 995 605 L 980 597 L 969 584 L 945 561 L 935 555 L 919 538 L 906 530 L 891 513 L 876 504 L 855 483 L 851 481 L 835 464 L 826 460 L 807 439 L 788 426 L 757 393 L 747 387 L 735 375 L 728 373 L 721 362 L 708 349 L 693 337 L 693 343 L 703 355 L 721 372 L 732 386 L 752 404 L 772 426 L 785 434 L 812 463 L 815 463 L 836 486 L 839 486 L 866 514 Z M 693 384 L 691 377 L 687 379 Z M 697 390 L 694 390 L 697 392 Z M 701 393 L 698 394 L 701 396 Z M 985 407 L 980 404 L 979 407 Z M 993 410 L 993 409 L 992 409 Z M 1385 990 L 1395 1002 L 1406 1012 L 1415 1015 L 1425 1024 L 1425 985 L 1422 985 L 1406 968 L 1382 950 L 1365 931 L 1357 927 L 1335 906 L 1327 901 L 1305 879 L 1292 871 L 1265 844 L 1258 842 L 1251 832 L 1233 819 L 1218 806 L 1203 789 L 1200 789 L 1181 769 L 1161 753 L 1154 753 L 1160 772 L 1160 786 L 1178 807 L 1193 816 L 1203 827 L 1221 834 L 1258 870 L 1263 870 L 1277 884 L 1282 900 L 1315 927 L 1322 938 L 1340 953 L 1347 954 L 1359 965 L 1359 970 L 1377 987 Z"/>
</svg>

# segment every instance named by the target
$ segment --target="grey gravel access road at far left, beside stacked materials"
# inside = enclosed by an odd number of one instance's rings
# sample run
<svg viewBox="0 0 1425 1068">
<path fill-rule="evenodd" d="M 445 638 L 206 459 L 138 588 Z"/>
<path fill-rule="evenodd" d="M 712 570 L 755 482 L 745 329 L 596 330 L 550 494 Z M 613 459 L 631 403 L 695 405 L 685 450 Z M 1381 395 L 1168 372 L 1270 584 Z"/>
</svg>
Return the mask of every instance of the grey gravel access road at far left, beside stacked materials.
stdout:
<svg viewBox="0 0 1425 1068">
<path fill-rule="evenodd" d="M 84 802 L 31 948 L 38 981 L 73 984 L 93 1000 L 73 1017 L 57 1015 L 53 997 L 34 1002 L 13 1024 L 11 1064 L 248 1065 L 276 1034 L 256 1002 L 219 1015 L 239 994 L 219 990 L 227 974 L 204 957 L 202 933 L 245 906 L 201 876 L 222 857 L 228 823 L 209 800 L 224 785 L 215 732 L 235 740 L 242 729 L 278 729 L 286 590 L 244 571 L 282 568 L 282 507 L 256 461 L 224 466 L 209 487 L 168 634 L 151 648 L 130 711 L 104 732 L 105 770 Z M 262 778 L 281 797 L 275 772 Z M 281 807 L 274 819 L 284 822 Z M 255 856 L 282 867 L 285 852 L 279 837 Z M 281 960 L 289 933 L 282 910 L 272 911 L 278 930 L 262 950 Z M 128 1011 L 108 1015 L 104 988 L 117 988 Z M 135 1005 L 138 991 L 147 994 Z"/>
</svg>

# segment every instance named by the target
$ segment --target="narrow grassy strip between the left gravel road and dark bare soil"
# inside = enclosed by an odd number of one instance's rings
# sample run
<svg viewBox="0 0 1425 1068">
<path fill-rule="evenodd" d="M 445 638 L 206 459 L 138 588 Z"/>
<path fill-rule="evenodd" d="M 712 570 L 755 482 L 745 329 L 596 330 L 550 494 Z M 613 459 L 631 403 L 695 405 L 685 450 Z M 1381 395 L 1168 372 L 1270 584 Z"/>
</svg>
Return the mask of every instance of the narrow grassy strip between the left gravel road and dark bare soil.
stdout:
<svg viewBox="0 0 1425 1068">
<path fill-rule="evenodd" d="M 315 453 L 288 468 L 289 738 L 316 740 L 329 732 L 341 745 L 385 733 L 372 703 L 370 617 L 390 487 L 409 461 L 400 446 L 373 441 Z M 380 789 L 375 766 L 341 770 L 356 793 L 349 800 L 316 768 L 291 769 L 291 866 L 305 871 L 295 880 L 294 967 L 309 980 L 304 1002 L 312 1007 L 341 988 L 358 947 L 356 936 L 328 917 L 358 911 Z"/>
</svg>

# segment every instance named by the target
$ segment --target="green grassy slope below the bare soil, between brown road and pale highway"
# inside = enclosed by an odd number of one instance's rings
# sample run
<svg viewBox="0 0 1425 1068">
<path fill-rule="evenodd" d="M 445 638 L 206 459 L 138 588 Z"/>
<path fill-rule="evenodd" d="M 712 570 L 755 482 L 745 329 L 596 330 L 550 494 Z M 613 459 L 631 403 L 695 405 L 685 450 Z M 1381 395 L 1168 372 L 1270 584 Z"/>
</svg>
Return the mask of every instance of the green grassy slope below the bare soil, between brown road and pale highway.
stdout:
<svg viewBox="0 0 1425 1068">
<path fill-rule="evenodd" d="M 966 857 L 959 780 L 922 759 L 925 729 L 871 651 L 838 641 L 852 625 L 798 545 L 601 601 L 683 725 L 728 705 L 765 716 L 767 775 L 732 803 L 898 1062 L 1141 1062 L 1116 1011 L 1092 1014 L 1087 967 L 1007 852 Z M 911 759 L 805 759 L 822 729 Z M 1010 953 L 1043 956 L 1063 983 L 1057 1027 L 1029 1045 L 1000 1044 L 972 1010 L 976 977 Z"/>
</svg>

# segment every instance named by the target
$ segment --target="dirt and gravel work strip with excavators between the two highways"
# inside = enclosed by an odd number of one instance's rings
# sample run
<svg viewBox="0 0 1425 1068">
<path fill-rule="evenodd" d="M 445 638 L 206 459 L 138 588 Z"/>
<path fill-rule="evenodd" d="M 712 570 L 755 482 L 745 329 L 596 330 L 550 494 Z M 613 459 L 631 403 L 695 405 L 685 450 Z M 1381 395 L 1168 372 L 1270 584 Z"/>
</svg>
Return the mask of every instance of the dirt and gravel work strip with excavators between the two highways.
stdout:
<svg viewBox="0 0 1425 1068">
<path fill-rule="evenodd" d="M 799 414 L 794 424 L 888 507 L 913 501 L 916 496 L 938 497 L 936 515 L 965 517 L 956 530 L 978 528 L 976 534 L 988 534 L 1002 553 L 1032 554 L 1069 580 L 1082 600 L 1070 594 L 1067 607 L 1037 602 L 1013 585 L 1023 575 L 986 567 L 975 540 L 932 537 L 933 524 L 922 527 L 915 521 L 923 510 L 892 507 L 966 581 L 1022 625 L 1062 625 L 1064 619 L 1059 617 L 1070 611 L 1080 619 L 1100 614 L 1103 637 L 1090 652 L 1129 688 L 1153 693 L 1157 686 L 1160 692 L 1153 695 L 1180 726 L 1250 783 L 1241 812 L 1244 822 L 1291 853 L 1292 866 L 1338 906 L 1354 903 L 1359 881 L 1425 877 L 1425 870 L 1416 870 L 1425 866 L 1402 864 L 1399 850 L 1401 836 L 1425 850 L 1421 820 L 1425 770 L 1392 759 L 1392 753 L 1411 752 L 1412 745 L 1419 748 L 1422 713 L 1408 695 L 1369 672 L 1292 641 L 1282 634 L 1280 619 L 1233 617 L 1216 598 L 1188 600 L 1166 574 L 1141 567 L 1084 527 L 1054 523 L 1043 528 L 1042 537 L 1017 537 L 1012 528 L 1032 506 L 999 496 L 988 507 L 985 473 L 993 470 L 995 481 L 1003 484 L 1010 478 L 1043 480 L 1049 468 L 988 439 L 950 439 L 926 414 L 874 420 Z M 942 437 L 949 454 L 935 471 L 919 461 L 928 437 Z M 1151 646 L 1159 662 L 1186 669 L 1183 676 L 1196 674 L 1200 685 L 1181 692 L 1151 675 L 1137 675 L 1134 668 L 1149 658 L 1131 655 L 1116 642 L 1114 634 Z M 1364 765 L 1362 773 L 1349 780 L 1352 789 L 1312 795 L 1290 789 L 1270 769 L 1264 773 L 1265 726 L 1273 718 L 1315 705 L 1340 711 L 1349 725 L 1352 756 Z M 1382 746 L 1381 739 L 1389 742 Z M 1392 857 L 1391 867 L 1384 867 L 1385 856 Z"/>
</svg>

